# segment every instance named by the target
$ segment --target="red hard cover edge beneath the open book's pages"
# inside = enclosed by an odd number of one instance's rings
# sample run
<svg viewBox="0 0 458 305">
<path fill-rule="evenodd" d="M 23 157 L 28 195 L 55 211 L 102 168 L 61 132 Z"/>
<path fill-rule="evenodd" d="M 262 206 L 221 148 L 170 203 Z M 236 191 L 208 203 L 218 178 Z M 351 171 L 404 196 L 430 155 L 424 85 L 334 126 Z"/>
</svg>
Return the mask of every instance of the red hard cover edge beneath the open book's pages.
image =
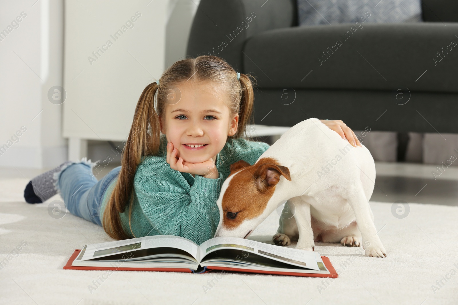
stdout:
<svg viewBox="0 0 458 305">
<path fill-rule="evenodd" d="M 188 268 L 127 268 L 127 267 L 83 267 L 83 266 L 72 266 L 71 263 L 78 257 L 81 250 L 76 249 L 75 252 L 69 258 L 64 269 L 75 269 L 75 270 L 129 270 L 129 271 L 169 271 L 169 272 L 187 272 L 194 273 L 194 270 Z M 280 274 L 280 275 L 293 275 L 293 276 L 307 276 L 307 277 L 318 277 L 318 278 L 337 278 L 338 274 L 334 269 L 333 265 L 329 261 L 328 257 L 322 256 L 322 260 L 327 270 L 331 274 L 316 274 L 316 273 L 299 273 L 299 272 L 284 272 L 284 271 L 263 271 L 263 270 L 250 270 L 242 268 L 229 268 L 229 267 L 212 267 L 207 266 L 204 271 L 200 273 L 207 273 L 212 270 L 227 270 L 236 272 L 249 272 L 249 273 L 266 273 L 266 274 Z"/>
</svg>

